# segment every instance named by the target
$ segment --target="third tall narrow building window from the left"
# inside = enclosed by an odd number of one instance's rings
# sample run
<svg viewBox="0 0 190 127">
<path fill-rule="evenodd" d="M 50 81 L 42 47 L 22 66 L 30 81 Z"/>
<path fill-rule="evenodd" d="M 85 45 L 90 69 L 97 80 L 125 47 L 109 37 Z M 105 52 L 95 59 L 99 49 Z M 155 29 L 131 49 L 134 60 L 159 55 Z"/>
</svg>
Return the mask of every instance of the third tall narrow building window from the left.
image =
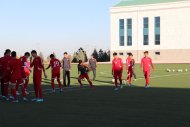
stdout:
<svg viewBox="0 0 190 127">
<path fill-rule="evenodd" d="M 149 19 L 143 19 L 143 44 L 149 45 Z"/>
</svg>

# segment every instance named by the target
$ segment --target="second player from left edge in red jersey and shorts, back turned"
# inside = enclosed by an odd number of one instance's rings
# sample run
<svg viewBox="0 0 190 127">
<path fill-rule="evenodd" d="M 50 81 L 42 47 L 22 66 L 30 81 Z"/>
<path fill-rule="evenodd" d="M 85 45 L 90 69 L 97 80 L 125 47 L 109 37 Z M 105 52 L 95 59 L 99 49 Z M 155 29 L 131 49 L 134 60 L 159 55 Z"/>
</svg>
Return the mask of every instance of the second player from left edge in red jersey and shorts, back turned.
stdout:
<svg viewBox="0 0 190 127">
<path fill-rule="evenodd" d="M 16 84 L 18 84 L 21 87 L 23 101 L 27 101 L 28 99 L 26 98 L 25 88 L 23 85 L 24 83 L 23 83 L 22 75 L 21 75 L 22 62 L 20 61 L 20 59 L 16 58 L 15 51 L 11 53 L 11 57 L 12 57 L 12 60 L 9 62 L 8 70 L 11 73 L 10 82 L 11 82 L 11 93 L 12 93 L 12 96 L 14 97 L 13 102 L 18 102 L 18 98 L 16 95 Z"/>
</svg>

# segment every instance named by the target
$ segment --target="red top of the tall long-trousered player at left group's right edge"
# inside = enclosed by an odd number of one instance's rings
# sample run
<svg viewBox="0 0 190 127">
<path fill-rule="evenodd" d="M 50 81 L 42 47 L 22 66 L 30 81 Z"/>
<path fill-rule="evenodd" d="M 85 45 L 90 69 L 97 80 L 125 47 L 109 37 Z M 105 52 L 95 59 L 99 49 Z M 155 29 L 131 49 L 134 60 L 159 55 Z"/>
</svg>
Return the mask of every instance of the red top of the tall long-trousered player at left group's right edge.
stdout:
<svg viewBox="0 0 190 127">
<path fill-rule="evenodd" d="M 34 67 L 34 73 L 38 73 L 38 72 L 42 72 L 42 70 L 44 70 L 44 65 L 43 65 L 43 61 L 42 59 L 37 56 L 36 58 L 34 58 L 33 62 L 30 63 L 30 67 Z"/>
</svg>

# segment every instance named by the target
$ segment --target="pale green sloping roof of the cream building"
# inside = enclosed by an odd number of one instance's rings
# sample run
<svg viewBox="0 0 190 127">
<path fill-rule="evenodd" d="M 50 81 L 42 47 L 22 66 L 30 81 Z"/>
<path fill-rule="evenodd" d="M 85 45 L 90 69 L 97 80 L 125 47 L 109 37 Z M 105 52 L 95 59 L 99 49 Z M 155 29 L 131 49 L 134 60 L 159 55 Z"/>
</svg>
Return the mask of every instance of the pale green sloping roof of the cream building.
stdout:
<svg viewBox="0 0 190 127">
<path fill-rule="evenodd" d="M 114 7 L 179 2 L 183 0 L 123 0 Z"/>
</svg>

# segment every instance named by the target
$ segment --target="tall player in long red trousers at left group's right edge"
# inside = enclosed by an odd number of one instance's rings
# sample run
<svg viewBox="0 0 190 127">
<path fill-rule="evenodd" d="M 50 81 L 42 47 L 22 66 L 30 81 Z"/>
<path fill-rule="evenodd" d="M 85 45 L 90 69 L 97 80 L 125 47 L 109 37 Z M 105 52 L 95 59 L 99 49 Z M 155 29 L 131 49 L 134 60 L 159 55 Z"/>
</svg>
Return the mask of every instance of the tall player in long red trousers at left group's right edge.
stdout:
<svg viewBox="0 0 190 127">
<path fill-rule="evenodd" d="M 32 99 L 32 101 L 43 102 L 44 99 L 42 97 L 42 71 L 44 72 L 44 77 L 47 78 L 45 73 L 44 65 L 42 59 L 37 55 L 37 52 L 33 50 L 31 52 L 32 57 L 30 57 L 30 67 L 34 67 L 33 69 L 33 82 L 34 82 L 34 90 L 36 98 Z M 33 59 L 33 60 L 32 60 Z"/>
</svg>

